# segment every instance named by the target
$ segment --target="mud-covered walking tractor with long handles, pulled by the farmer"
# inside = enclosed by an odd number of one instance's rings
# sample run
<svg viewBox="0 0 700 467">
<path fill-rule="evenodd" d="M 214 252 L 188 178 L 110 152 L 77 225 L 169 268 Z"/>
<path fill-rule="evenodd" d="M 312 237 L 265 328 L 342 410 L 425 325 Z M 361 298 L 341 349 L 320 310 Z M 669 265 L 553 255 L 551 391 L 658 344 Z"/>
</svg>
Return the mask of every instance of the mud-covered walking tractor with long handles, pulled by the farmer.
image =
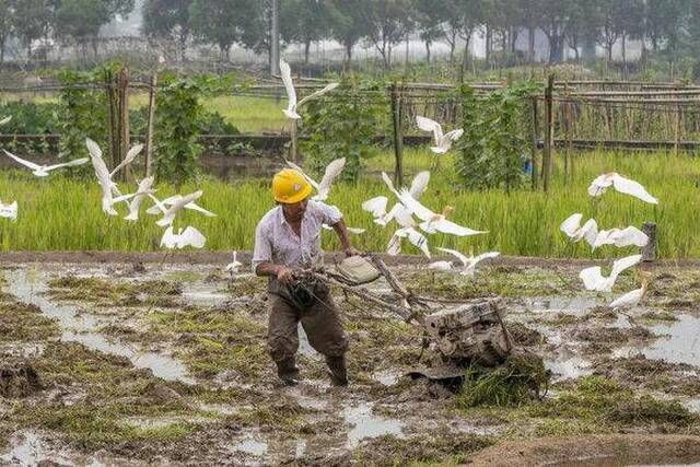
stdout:
<svg viewBox="0 0 700 467">
<path fill-rule="evenodd" d="M 429 353 L 423 365 L 409 373 L 413 377 L 459 378 L 464 369 L 472 364 L 500 365 L 513 350 L 500 300 L 460 303 L 416 295 L 376 256 L 350 257 L 310 275 L 310 279 L 337 285 L 419 327 Z M 390 293 L 365 287 L 381 278 L 386 280 Z"/>
</svg>

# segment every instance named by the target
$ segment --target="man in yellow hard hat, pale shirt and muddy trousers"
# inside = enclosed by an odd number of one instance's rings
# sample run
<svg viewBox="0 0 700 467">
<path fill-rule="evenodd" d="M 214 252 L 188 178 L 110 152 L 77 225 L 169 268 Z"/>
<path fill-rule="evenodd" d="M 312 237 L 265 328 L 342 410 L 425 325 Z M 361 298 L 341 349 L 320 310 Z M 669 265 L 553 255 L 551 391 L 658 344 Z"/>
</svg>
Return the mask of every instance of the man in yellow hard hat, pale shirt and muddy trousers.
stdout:
<svg viewBox="0 0 700 467">
<path fill-rule="evenodd" d="M 312 186 L 300 172 L 287 168 L 275 175 L 272 194 L 278 206 L 262 217 L 255 231 L 253 270 L 268 277 L 268 351 L 282 383 L 291 386 L 299 380 L 295 357 L 301 322 L 311 346 L 326 358 L 331 382 L 345 386 L 348 339 L 328 287 L 298 279 L 301 270 L 323 265 L 323 224 L 332 226 L 346 255 L 357 252 L 340 211 L 310 200 L 311 192 Z"/>
</svg>

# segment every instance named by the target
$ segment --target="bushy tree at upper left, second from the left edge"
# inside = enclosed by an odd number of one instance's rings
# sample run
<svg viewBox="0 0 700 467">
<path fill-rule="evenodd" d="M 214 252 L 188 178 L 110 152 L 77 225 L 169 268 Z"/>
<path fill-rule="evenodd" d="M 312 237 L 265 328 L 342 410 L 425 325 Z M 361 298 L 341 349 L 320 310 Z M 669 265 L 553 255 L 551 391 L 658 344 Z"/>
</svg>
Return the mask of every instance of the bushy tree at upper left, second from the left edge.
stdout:
<svg viewBox="0 0 700 467">
<path fill-rule="evenodd" d="M 71 38 L 83 47 L 93 39 L 97 55 L 96 37 L 100 28 L 116 14 L 127 15 L 133 10 L 133 0 L 61 0 L 56 9 L 56 33 Z"/>
</svg>

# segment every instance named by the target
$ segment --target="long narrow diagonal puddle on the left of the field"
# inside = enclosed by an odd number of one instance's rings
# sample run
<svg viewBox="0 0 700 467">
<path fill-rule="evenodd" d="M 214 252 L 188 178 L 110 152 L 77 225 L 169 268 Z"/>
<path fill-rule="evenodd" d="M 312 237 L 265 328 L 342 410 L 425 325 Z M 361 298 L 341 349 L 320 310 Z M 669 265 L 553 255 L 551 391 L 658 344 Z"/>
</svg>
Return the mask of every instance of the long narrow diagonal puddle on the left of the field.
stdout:
<svg viewBox="0 0 700 467">
<path fill-rule="evenodd" d="M 125 357 L 131 361 L 133 366 L 151 370 L 154 376 L 162 380 L 195 384 L 195 380 L 187 376 L 185 365 L 177 360 L 160 353 L 141 351 L 135 346 L 107 339 L 97 332 L 104 320 L 80 313 L 77 306 L 50 302 L 44 295 L 48 291 L 48 285 L 42 273 L 26 270 L 8 271 L 5 279 L 8 292 L 20 302 L 36 305 L 44 315 L 58 319 L 63 342 L 78 342 L 91 350 Z"/>
</svg>

